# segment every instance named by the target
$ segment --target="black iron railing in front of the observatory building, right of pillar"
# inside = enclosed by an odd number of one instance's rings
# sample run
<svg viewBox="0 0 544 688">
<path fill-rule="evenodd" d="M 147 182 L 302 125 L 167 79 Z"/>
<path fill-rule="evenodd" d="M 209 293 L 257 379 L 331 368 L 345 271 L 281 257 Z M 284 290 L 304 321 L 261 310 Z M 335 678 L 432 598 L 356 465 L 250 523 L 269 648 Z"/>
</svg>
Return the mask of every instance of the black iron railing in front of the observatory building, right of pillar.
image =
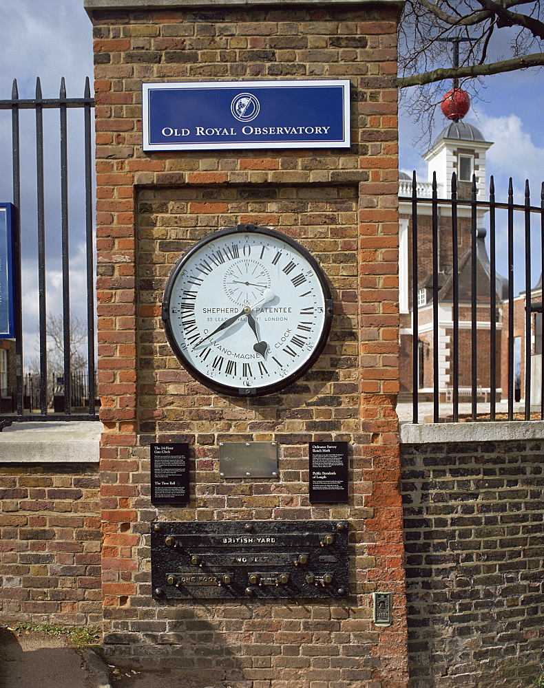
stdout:
<svg viewBox="0 0 544 688">
<path fill-rule="evenodd" d="M 423 186 L 429 187 L 424 189 L 428 192 L 428 196 L 422 195 Z M 485 398 L 489 402 L 485 413 L 486 420 L 497 420 L 499 411 L 501 411 L 501 419 L 506 416 L 508 420 L 513 420 L 516 383 L 519 383 L 519 378 L 523 380 L 525 404 L 522 413 L 525 420 L 534 420 L 535 415 L 538 416 L 538 420 L 544 420 L 544 365 L 542 363 L 538 380 L 532 380 L 532 356 L 536 353 L 534 342 L 536 339 L 543 341 L 544 338 L 544 318 L 538 319 L 538 327 L 536 319 L 533 318 L 533 313 L 541 312 L 543 300 L 544 183 L 541 187 L 541 204 L 539 206 L 531 204 L 528 182 L 525 183 L 523 204 L 514 203 L 512 179 L 510 179 L 506 202 L 496 201 L 493 178 L 490 180 L 490 193 L 487 200 L 481 200 L 481 197 L 478 196 L 477 181 L 474 176 L 469 187 L 470 191 L 468 191 L 465 183 L 463 184 L 463 193 L 459 194 L 458 186 L 454 173 L 451 180 L 450 197 L 444 198 L 438 197 L 436 175 L 432 184 L 417 182 L 415 173 L 411 182 L 401 182 L 399 194 L 401 213 L 404 204 L 404 212 L 406 217 L 409 217 L 411 225 L 409 233 L 411 255 L 408 258 L 411 275 L 408 289 L 412 332 L 412 389 L 409 390 L 412 395 L 412 422 L 419 422 L 419 403 L 423 380 L 421 370 L 422 345 L 428 345 L 430 352 L 432 352 L 432 384 L 424 385 L 424 387 L 428 392 L 427 400 L 429 400 L 428 396 L 432 397 L 434 422 L 439 422 L 444 414 L 443 403 L 448 400 L 447 392 L 449 392 L 449 400 L 452 402 L 451 411 L 448 407 L 448 411 L 451 413 L 450 420 L 454 422 L 459 420 L 461 396 L 470 399 L 471 411 L 468 420 L 478 420 L 479 413 L 481 413 L 478 400 L 483 391 L 485 391 Z M 408 195 L 410 191 L 411 195 Z M 460 195 L 463 197 L 461 198 Z M 409 204 L 409 212 L 406 212 L 406 204 Z M 499 213 L 501 213 L 500 222 Z M 489 238 L 489 256 L 486 249 L 484 266 L 487 275 L 485 279 L 488 279 L 489 283 L 487 293 L 485 293 L 482 285 L 481 246 L 478 245 L 479 239 L 485 236 L 485 232 L 482 232 L 478 227 L 483 215 L 485 215 L 485 224 L 488 225 Z M 466 298 L 463 303 L 463 295 L 460 297 L 459 281 L 463 275 L 463 259 L 459 255 L 462 244 L 459 230 L 461 216 L 464 223 L 465 240 L 468 238 L 470 242 L 470 271 L 465 272 L 465 282 L 468 280 L 470 272 L 470 285 L 468 288 L 466 283 L 464 285 L 464 296 L 466 297 L 467 293 L 472 293 L 470 303 L 466 303 Z M 428 222 L 422 222 L 422 217 L 426 217 Z M 518 220 L 522 222 L 518 222 Z M 423 224 L 425 226 L 422 230 Z M 525 255 L 521 261 L 524 271 L 523 280 L 519 279 L 519 283 L 523 284 L 525 289 L 524 292 L 519 289 L 519 294 L 515 297 L 514 281 L 519 278 L 519 274 L 514 272 L 514 259 L 517 259 L 520 254 L 520 247 L 519 244 L 516 246 L 515 239 L 520 233 L 520 231 L 516 231 L 516 228 L 521 224 L 523 224 L 521 232 L 523 232 L 523 253 Z M 447 232 L 445 232 L 446 225 L 448 225 Z M 423 268 L 421 261 L 422 231 L 427 233 L 425 246 L 428 246 L 430 241 L 432 247 L 430 250 L 432 256 L 430 275 L 428 268 Z M 429 233 L 430 237 L 428 236 Z M 505 257 L 506 260 L 499 264 L 506 278 L 502 281 L 497 269 L 497 237 L 499 237 L 499 233 L 501 233 L 501 243 L 507 245 L 506 250 L 501 252 L 501 257 Z M 446 235 L 449 244 L 447 251 L 450 264 L 445 269 L 442 254 L 446 250 Z M 532 276 L 535 272 L 532 267 L 534 268 L 536 257 L 533 255 L 532 246 L 535 236 L 537 242 L 540 243 L 540 252 L 536 263 L 539 264 L 541 273 L 541 281 L 536 287 L 532 286 Z M 466 256 L 466 243 L 464 246 Z M 519 263 L 517 265 L 519 268 Z M 516 270 L 519 273 L 518 268 Z M 507 281 L 508 288 L 506 288 Z M 497 288 L 499 282 L 504 288 L 503 293 L 501 293 L 501 289 Z M 418 297 L 421 293 L 422 284 L 424 287 L 429 287 L 430 294 L 424 306 L 428 311 L 432 311 L 432 316 L 428 315 L 428 318 L 432 320 L 432 341 L 430 342 L 424 342 L 420 338 L 419 315 L 423 306 L 418 303 Z M 447 294 L 445 293 L 445 285 L 447 286 Z M 441 379 L 439 363 L 441 360 L 443 361 L 443 358 L 440 358 L 440 347 L 443 351 L 445 338 L 443 336 L 441 338 L 439 332 L 439 307 L 441 303 L 446 303 L 446 301 L 448 308 L 451 308 L 450 327 L 448 325 L 451 334 L 448 335 L 448 373 L 446 376 L 443 374 Z M 478 324 L 479 320 L 482 319 L 481 309 L 484 304 L 488 308 L 488 316 L 485 316 L 485 329 L 488 328 L 490 333 L 487 352 L 482 352 Z M 432 308 L 428 308 L 428 306 L 432 306 Z M 460 308 L 463 306 L 465 310 L 460 321 Z M 520 310 L 523 311 L 522 324 L 520 324 Z M 469 311 L 470 318 L 468 318 Z M 460 323 L 464 327 L 470 327 L 469 343 L 466 339 L 464 343 L 460 341 Z M 514 361 L 514 339 L 515 336 L 520 336 L 520 328 L 523 330 L 521 338 L 524 338 L 525 342 L 520 359 L 521 363 Z M 427 329 L 429 330 L 428 325 Z M 483 358 L 487 358 L 485 371 L 483 371 Z M 470 365 L 468 361 L 470 361 Z M 521 366 L 521 370 L 516 371 L 516 364 Z M 403 361 L 401 361 L 401 365 L 403 365 Z M 461 379 L 461 369 L 465 372 L 465 379 Z M 466 373 L 467 369 L 470 369 L 470 380 Z M 498 378 L 499 370 L 501 378 Z M 482 376 L 485 376 L 485 386 L 481 382 Z M 445 389 L 443 385 L 445 377 L 448 378 L 448 389 Z M 538 405 L 531 403 L 532 384 L 534 383 L 540 387 Z M 500 408 L 498 402 L 503 402 Z"/>
</svg>

